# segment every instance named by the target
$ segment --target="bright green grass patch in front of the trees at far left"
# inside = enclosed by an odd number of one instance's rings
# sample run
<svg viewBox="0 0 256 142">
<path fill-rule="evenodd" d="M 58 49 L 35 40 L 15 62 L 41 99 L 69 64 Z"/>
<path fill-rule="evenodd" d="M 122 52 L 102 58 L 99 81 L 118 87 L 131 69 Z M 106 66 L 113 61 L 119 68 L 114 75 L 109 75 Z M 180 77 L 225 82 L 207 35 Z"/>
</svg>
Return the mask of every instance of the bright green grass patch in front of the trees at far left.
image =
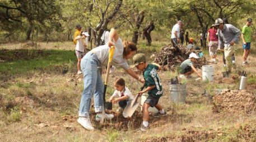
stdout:
<svg viewBox="0 0 256 142">
<path fill-rule="evenodd" d="M 76 61 L 74 51 L 44 50 L 44 52 L 49 55 L 30 60 L 18 59 L 11 62 L 0 63 L 0 73 L 23 74 L 30 70 L 43 69 L 54 65 L 69 63 L 70 61 Z"/>
</svg>

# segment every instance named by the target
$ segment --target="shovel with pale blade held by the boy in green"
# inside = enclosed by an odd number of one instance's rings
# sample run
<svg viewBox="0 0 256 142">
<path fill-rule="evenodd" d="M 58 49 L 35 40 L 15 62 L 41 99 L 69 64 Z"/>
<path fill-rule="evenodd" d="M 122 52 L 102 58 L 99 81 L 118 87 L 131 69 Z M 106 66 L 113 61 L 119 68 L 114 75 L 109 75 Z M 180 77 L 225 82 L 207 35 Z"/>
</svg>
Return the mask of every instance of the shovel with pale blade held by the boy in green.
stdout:
<svg viewBox="0 0 256 142">
<path fill-rule="evenodd" d="M 141 87 L 141 91 L 143 90 L 144 87 L 145 85 Z M 123 116 L 125 118 L 132 117 L 134 111 L 136 111 L 137 107 L 139 106 L 139 103 L 137 102 L 138 97 L 139 97 L 139 93 L 136 95 L 136 97 L 133 100 L 129 101 L 127 106 L 124 108 Z"/>
</svg>

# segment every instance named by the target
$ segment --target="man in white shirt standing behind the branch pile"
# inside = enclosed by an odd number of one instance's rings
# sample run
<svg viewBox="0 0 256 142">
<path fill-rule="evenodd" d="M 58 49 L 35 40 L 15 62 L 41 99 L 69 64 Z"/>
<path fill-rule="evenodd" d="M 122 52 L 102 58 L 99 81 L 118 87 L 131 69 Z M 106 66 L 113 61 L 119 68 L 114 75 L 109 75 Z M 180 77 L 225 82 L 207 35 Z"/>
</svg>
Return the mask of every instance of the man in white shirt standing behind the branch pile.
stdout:
<svg viewBox="0 0 256 142">
<path fill-rule="evenodd" d="M 174 26 L 173 29 L 171 30 L 171 43 L 173 46 L 176 48 L 177 45 L 180 42 L 180 29 L 182 27 L 183 23 L 182 21 L 178 21 Z"/>
</svg>

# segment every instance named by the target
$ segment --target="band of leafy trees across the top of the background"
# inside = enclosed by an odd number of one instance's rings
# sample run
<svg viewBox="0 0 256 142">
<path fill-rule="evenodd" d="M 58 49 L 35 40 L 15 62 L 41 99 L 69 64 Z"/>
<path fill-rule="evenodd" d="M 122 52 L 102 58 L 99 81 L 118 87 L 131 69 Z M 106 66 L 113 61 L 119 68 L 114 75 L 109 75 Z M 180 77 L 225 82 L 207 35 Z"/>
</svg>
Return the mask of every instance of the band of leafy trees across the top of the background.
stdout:
<svg viewBox="0 0 256 142">
<path fill-rule="evenodd" d="M 20 40 L 31 40 L 33 36 L 47 41 L 71 40 L 75 25 L 79 23 L 83 31 L 90 32 L 95 45 L 100 44 L 100 36 L 111 27 L 133 35 L 134 42 L 137 36 L 145 35 L 150 44 L 152 30 L 170 31 L 177 20 L 184 22 L 184 30 L 205 34 L 216 18 L 227 17 L 240 27 L 244 17 L 255 17 L 254 9 L 255 0 L 2 0 L 0 35 L 4 38 L 0 40 L 14 35 Z M 52 35 L 55 39 L 50 38 Z"/>
</svg>

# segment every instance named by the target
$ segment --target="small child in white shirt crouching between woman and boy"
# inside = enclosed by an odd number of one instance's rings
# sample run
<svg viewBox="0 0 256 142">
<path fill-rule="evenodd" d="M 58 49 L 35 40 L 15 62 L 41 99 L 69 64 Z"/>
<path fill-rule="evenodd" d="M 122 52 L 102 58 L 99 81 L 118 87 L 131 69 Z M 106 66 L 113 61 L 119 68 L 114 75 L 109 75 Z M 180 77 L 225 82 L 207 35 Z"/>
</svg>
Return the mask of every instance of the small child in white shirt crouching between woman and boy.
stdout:
<svg viewBox="0 0 256 142">
<path fill-rule="evenodd" d="M 114 83 L 115 92 L 109 98 L 112 103 L 117 103 L 120 108 L 124 109 L 127 106 L 128 101 L 133 100 L 134 97 L 131 91 L 125 87 L 125 82 L 123 78 L 118 78 Z M 120 110 L 120 109 L 119 109 Z"/>
</svg>

